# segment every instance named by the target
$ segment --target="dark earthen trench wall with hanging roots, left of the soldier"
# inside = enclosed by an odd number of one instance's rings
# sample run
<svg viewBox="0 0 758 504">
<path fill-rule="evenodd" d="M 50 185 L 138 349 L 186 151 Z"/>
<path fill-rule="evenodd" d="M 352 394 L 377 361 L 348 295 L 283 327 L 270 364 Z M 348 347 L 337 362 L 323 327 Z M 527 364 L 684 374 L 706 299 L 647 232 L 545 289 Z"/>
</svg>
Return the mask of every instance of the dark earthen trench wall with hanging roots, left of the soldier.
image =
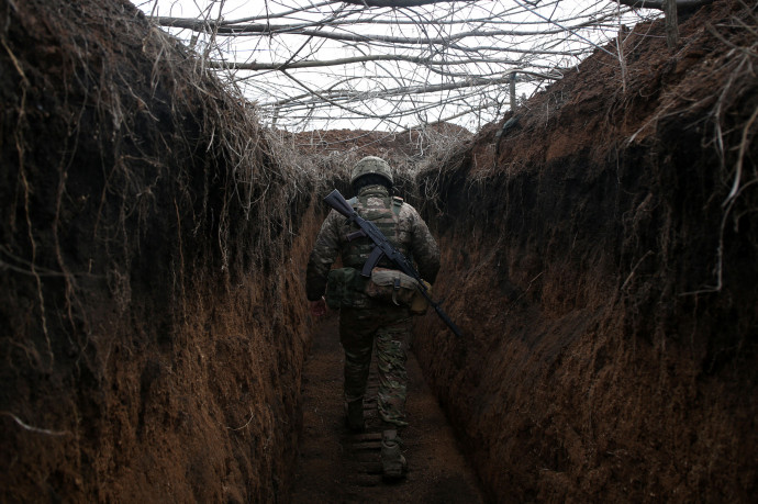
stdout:
<svg viewBox="0 0 758 504">
<path fill-rule="evenodd" d="M 308 173 L 129 2 L 0 41 L 0 500 L 287 501 Z"/>
</svg>

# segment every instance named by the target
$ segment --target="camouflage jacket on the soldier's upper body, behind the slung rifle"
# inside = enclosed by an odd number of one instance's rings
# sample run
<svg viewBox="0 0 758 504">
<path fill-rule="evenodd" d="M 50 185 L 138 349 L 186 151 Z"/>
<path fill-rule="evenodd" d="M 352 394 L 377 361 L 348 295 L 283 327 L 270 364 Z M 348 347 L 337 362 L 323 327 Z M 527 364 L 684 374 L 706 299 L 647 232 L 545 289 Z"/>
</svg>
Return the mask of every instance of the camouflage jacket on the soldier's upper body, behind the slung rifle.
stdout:
<svg viewBox="0 0 758 504">
<path fill-rule="evenodd" d="M 364 219 L 369 219 L 367 214 L 372 211 L 384 210 L 384 214 L 387 214 L 386 211 L 392 205 L 389 192 L 381 186 L 363 188 L 358 193 L 357 201 L 350 200 L 350 203 Z M 392 215 L 394 215 L 394 229 L 386 231 L 386 226 L 382 226 L 380 227 L 382 233 L 392 245 L 405 254 L 405 257 L 416 264 L 419 275 L 424 280 L 434 283 L 439 270 L 439 248 L 428 227 L 426 227 L 426 223 L 421 219 L 419 212 L 408 203 L 400 204 L 399 209 L 392 212 Z M 366 250 L 370 248 L 368 245 L 371 240 L 361 237 L 348 242 L 347 235 L 357 229 L 355 224 L 352 224 L 336 210 L 332 210 L 326 216 L 308 261 L 305 291 L 309 301 L 317 300 L 324 294 L 326 277 L 337 256 L 342 257 L 344 266 L 360 268 L 360 265 L 349 262 L 355 260 L 356 246 Z M 379 262 L 379 266 L 392 268 L 391 264 L 382 261 Z"/>
</svg>

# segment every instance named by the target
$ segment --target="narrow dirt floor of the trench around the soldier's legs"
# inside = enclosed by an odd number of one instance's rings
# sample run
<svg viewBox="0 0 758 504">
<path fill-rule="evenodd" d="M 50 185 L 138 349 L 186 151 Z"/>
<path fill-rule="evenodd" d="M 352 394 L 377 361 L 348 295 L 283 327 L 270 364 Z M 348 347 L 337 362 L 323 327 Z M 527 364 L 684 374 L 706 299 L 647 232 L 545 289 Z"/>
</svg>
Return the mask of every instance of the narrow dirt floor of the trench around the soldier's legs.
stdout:
<svg viewBox="0 0 758 504">
<path fill-rule="evenodd" d="M 408 362 L 411 425 L 403 432 L 409 472 L 401 482 L 382 482 L 375 368 L 365 402 L 367 432 L 350 434 L 344 424 L 337 316 L 331 315 L 316 325 L 303 372 L 303 436 L 292 502 L 484 502 L 477 478 L 412 354 Z"/>
</svg>

